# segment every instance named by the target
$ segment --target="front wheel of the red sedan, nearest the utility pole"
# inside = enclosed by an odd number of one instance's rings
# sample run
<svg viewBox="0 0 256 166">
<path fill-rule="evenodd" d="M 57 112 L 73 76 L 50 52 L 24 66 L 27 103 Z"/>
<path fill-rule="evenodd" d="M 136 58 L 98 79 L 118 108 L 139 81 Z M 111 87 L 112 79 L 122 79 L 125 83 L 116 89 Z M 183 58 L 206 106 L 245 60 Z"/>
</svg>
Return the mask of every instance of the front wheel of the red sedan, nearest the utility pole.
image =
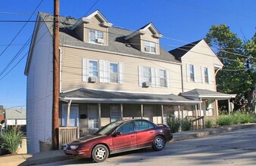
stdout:
<svg viewBox="0 0 256 166">
<path fill-rule="evenodd" d="M 108 148 L 105 145 L 97 145 L 92 150 L 92 158 L 96 162 L 103 162 L 108 158 Z"/>
</svg>

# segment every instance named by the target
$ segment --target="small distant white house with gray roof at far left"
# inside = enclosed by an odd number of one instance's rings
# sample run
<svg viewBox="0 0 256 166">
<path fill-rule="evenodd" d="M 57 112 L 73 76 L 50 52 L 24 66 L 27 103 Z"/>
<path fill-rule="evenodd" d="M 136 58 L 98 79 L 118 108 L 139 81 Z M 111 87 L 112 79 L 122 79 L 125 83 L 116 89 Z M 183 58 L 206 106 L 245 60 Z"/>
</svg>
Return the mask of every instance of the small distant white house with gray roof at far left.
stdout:
<svg viewBox="0 0 256 166">
<path fill-rule="evenodd" d="M 5 126 L 26 125 L 26 109 L 5 109 Z"/>
</svg>

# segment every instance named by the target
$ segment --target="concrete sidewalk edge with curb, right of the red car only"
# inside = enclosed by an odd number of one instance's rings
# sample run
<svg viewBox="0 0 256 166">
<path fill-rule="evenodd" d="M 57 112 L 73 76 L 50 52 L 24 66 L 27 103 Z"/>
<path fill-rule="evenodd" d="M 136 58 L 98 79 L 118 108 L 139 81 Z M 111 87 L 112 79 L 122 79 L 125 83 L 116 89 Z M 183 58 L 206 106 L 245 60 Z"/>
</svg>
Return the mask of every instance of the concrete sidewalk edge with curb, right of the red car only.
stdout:
<svg viewBox="0 0 256 166">
<path fill-rule="evenodd" d="M 243 128 L 253 128 L 256 127 L 256 124 L 237 124 L 232 126 L 225 126 L 221 128 L 204 128 L 196 131 L 183 131 L 180 133 L 173 134 L 173 140 L 171 142 L 180 141 L 180 140 L 189 140 L 195 137 L 204 137 L 211 134 L 225 133 L 228 131 L 236 131 Z"/>
</svg>

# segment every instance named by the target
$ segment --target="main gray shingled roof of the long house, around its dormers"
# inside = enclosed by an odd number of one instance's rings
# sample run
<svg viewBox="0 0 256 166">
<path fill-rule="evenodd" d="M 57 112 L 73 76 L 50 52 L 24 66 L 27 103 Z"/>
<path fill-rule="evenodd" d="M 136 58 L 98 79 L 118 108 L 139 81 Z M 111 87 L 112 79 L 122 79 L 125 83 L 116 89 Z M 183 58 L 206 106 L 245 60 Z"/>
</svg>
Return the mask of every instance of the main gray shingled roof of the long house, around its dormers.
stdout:
<svg viewBox="0 0 256 166">
<path fill-rule="evenodd" d="M 52 24 L 53 24 L 53 16 L 52 14 L 45 14 L 40 12 L 39 15 L 43 18 L 45 21 L 46 26 L 49 29 L 49 32 L 53 34 L 52 31 Z M 170 62 L 180 63 L 178 60 L 175 60 L 175 57 L 173 57 L 172 54 L 165 51 L 164 48 L 160 47 L 160 55 L 157 54 L 147 54 L 142 51 L 137 50 L 136 48 L 133 48 L 133 45 L 131 45 L 130 42 L 124 40 L 124 38 L 127 35 L 130 35 L 133 33 L 133 31 L 126 30 L 126 29 L 120 29 L 114 26 L 109 27 L 109 40 L 108 40 L 108 46 L 103 45 L 93 45 L 90 43 L 83 42 L 78 35 L 76 35 L 76 32 L 72 31 L 70 27 L 73 26 L 74 23 L 76 23 L 76 19 L 72 17 L 60 17 L 60 44 L 61 45 L 71 45 L 81 48 L 92 48 L 92 49 L 98 49 L 102 51 L 111 51 L 111 52 L 117 52 L 121 54 L 132 54 L 139 57 L 149 57 L 156 60 L 167 60 Z M 126 44 L 130 44 L 132 47 L 127 47 Z"/>
</svg>

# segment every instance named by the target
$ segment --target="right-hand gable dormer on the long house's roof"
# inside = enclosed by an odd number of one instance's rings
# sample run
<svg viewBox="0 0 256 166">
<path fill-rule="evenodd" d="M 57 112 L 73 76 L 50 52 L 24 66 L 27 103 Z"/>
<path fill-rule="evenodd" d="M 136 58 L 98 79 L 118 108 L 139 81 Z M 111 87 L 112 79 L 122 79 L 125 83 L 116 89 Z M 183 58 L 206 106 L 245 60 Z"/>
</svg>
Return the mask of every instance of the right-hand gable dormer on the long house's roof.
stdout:
<svg viewBox="0 0 256 166">
<path fill-rule="evenodd" d="M 139 51 L 150 54 L 160 54 L 159 38 L 162 36 L 163 35 L 155 28 L 153 23 L 148 23 L 148 25 L 127 35 L 124 39 L 129 40 L 133 47 L 137 48 Z"/>
</svg>

